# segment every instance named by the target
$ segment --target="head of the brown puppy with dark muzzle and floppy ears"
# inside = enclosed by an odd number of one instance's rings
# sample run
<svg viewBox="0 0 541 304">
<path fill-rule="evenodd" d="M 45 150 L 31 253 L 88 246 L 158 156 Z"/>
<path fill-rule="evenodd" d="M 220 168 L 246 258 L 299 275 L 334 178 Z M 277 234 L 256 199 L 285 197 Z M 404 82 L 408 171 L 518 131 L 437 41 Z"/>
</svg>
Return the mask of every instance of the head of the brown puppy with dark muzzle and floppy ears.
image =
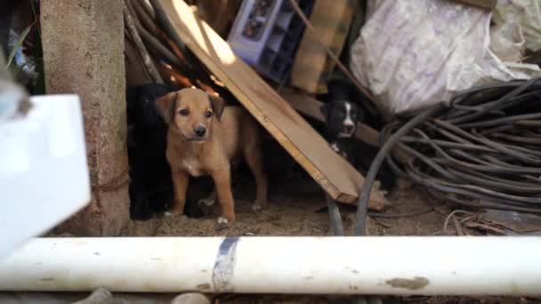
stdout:
<svg viewBox="0 0 541 304">
<path fill-rule="evenodd" d="M 222 116 L 225 102 L 198 89 L 171 92 L 156 101 L 158 113 L 184 140 L 204 141 L 212 128 L 213 117 Z"/>
</svg>

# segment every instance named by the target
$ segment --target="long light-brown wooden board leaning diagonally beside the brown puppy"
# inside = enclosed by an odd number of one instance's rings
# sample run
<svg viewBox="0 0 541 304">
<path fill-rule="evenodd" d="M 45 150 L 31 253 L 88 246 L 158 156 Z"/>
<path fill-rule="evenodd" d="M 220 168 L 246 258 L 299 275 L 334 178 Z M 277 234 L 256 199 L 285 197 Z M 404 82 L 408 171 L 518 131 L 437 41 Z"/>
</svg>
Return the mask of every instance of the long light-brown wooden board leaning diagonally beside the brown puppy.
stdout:
<svg viewBox="0 0 541 304">
<path fill-rule="evenodd" d="M 229 44 L 188 4 L 182 0 L 163 0 L 161 4 L 190 51 L 225 84 L 329 196 L 343 203 L 356 203 L 359 187 L 364 182 L 360 173 L 338 156 L 286 100 L 239 59 Z M 385 202 L 384 196 L 372 191 L 372 207 Z"/>
</svg>

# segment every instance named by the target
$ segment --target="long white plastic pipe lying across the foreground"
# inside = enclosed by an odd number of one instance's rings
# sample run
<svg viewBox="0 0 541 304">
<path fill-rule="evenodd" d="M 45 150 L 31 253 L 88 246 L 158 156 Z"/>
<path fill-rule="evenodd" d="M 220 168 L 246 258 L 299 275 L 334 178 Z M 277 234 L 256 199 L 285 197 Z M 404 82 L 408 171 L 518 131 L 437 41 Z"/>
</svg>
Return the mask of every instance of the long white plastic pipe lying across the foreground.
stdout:
<svg viewBox="0 0 541 304">
<path fill-rule="evenodd" d="M 38 238 L 1 291 L 541 295 L 541 237 Z"/>
</svg>

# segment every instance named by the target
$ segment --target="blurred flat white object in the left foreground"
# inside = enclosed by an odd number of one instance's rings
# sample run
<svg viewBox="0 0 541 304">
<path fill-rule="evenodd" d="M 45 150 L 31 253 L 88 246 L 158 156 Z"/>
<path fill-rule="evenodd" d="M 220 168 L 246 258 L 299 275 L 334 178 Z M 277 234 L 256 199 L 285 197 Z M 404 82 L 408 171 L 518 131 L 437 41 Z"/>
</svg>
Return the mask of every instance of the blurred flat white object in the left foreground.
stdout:
<svg viewBox="0 0 541 304">
<path fill-rule="evenodd" d="M 79 97 L 33 96 L 30 102 L 26 116 L 0 119 L 0 258 L 91 198 Z"/>
</svg>

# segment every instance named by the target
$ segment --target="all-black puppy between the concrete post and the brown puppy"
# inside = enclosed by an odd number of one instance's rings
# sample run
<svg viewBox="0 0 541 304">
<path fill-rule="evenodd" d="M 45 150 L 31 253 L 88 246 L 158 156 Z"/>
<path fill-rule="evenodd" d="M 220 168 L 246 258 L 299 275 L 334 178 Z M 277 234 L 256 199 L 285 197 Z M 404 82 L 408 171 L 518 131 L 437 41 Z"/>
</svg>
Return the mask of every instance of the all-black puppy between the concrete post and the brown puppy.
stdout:
<svg viewBox="0 0 541 304">
<path fill-rule="evenodd" d="M 126 90 L 132 220 L 149 220 L 154 213 L 166 212 L 173 201 L 173 180 L 166 160 L 167 126 L 155 107 L 155 100 L 168 92 L 174 89 L 162 84 Z M 203 215 L 195 204 L 186 204 L 184 212 L 190 217 Z"/>
</svg>

